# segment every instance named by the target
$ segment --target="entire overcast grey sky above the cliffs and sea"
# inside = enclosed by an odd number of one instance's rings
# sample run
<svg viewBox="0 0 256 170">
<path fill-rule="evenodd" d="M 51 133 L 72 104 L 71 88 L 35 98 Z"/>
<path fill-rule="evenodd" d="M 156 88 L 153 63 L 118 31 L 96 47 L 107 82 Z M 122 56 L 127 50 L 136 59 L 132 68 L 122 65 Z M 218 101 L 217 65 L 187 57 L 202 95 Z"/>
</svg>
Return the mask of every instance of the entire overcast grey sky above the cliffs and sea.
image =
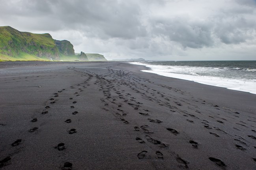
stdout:
<svg viewBox="0 0 256 170">
<path fill-rule="evenodd" d="M 0 26 L 108 60 L 256 60 L 256 0 L 0 0 Z"/>
</svg>

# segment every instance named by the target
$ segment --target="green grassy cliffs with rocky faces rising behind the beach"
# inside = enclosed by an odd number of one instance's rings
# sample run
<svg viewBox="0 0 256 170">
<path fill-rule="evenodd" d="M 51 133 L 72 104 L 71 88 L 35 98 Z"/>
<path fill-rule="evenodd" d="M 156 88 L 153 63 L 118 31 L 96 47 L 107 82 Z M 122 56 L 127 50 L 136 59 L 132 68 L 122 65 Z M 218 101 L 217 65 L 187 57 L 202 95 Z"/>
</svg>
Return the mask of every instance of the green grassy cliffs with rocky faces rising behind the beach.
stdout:
<svg viewBox="0 0 256 170">
<path fill-rule="evenodd" d="M 81 55 L 75 55 L 71 42 L 54 40 L 49 33 L 21 32 L 0 26 L 0 61 L 90 61 L 85 53 Z"/>
</svg>

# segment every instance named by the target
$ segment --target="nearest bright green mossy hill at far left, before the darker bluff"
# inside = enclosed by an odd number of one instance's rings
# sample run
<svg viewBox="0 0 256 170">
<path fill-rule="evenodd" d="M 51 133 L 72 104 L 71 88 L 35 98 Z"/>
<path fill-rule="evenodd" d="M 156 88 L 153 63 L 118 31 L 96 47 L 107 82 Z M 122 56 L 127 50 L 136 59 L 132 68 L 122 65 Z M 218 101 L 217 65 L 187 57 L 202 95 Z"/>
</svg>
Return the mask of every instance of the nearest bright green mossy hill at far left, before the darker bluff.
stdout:
<svg viewBox="0 0 256 170">
<path fill-rule="evenodd" d="M 0 27 L 0 54 L 22 58 L 21 52 L 48 58 L 58 57 L 59 53 L 54 40 L 48 33 L 34 34 L 21 32 L 9 26 Z"/>
</svg>

